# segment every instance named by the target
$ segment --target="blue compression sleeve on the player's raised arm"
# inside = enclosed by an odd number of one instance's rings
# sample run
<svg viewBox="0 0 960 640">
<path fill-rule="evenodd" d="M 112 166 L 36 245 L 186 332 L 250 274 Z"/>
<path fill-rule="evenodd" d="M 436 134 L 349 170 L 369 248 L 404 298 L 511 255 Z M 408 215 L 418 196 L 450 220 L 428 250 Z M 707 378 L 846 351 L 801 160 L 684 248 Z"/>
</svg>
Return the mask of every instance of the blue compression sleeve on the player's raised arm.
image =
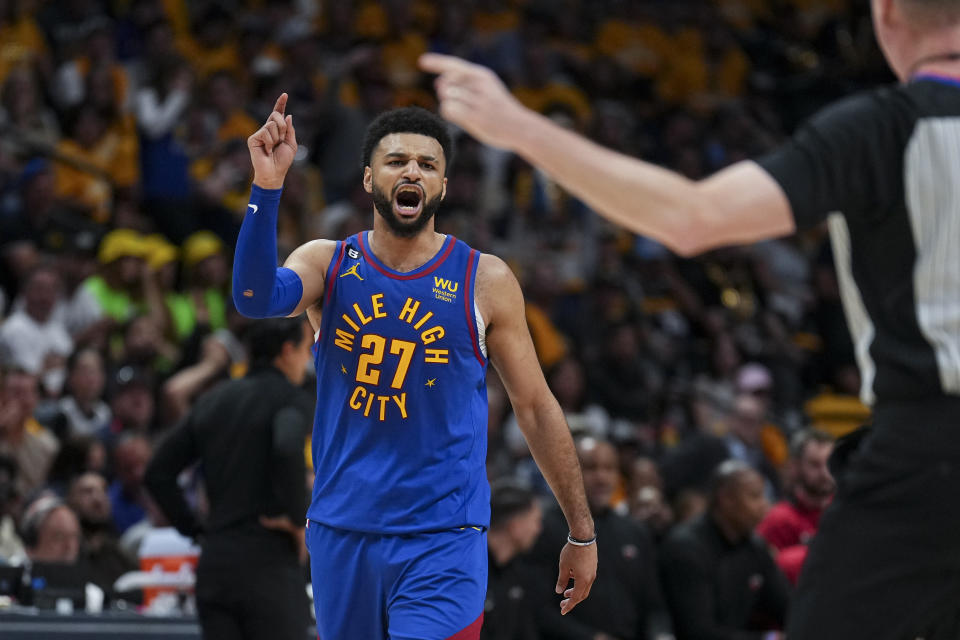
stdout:
<svg viewBox="0 0 960 640">
<path fill-rule="evenodd" d="M 303 297 L 300 276 L 277 267 L 277 209 L 283 189 L 253 185 L 233 257 L 233 304 L 248 318 L 290 315 Z"/>
</svg>

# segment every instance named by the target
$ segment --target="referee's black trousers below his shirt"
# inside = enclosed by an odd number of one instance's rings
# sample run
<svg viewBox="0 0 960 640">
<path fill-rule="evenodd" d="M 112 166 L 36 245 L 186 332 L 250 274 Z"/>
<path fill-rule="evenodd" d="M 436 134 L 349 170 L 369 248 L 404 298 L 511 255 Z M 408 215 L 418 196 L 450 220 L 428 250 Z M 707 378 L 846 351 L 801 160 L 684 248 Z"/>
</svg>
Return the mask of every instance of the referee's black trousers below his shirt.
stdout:
<svg viewBox="0 0 960 640">
<path fill-rule="evenodd" d="M 787 638 L 960 638 L 960 397 L 878 405 L 837 480 Z"/>
</svg>

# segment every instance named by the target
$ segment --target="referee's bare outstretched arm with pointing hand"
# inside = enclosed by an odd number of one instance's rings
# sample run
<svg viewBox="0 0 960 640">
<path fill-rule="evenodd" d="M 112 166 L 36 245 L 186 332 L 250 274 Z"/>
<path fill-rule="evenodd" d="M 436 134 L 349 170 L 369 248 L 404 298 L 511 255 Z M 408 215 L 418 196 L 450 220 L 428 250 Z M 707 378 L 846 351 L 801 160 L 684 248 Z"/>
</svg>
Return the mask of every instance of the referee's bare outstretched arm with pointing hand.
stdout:
<svg viewBox="0 0 960 640">
<path fill-rule="evenodd" d="M 690 255 L 794 231 L 790 204 L 756 163 L 737 163 L 695 182 L 605 149 L 521 105 L 496 74 L 459 58 L 426 54 L 438 73 L 444 118 L 478 140 L 515 151 L 598 213 Z"/>
</svg>

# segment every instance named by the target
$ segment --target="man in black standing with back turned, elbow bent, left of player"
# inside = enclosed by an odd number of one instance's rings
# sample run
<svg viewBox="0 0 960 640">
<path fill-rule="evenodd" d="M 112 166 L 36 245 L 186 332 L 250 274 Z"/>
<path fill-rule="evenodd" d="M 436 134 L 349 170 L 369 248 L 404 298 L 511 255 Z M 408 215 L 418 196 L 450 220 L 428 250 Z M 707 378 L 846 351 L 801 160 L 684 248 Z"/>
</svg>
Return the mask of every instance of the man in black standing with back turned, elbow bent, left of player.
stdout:
<svg viewBox="0 0 960 640">
<path fill-rule="evenodd" d="M 184 535 L 201 542 L 197 609 L 205 638 L 305 637 L 304 442 L 313 407 L 298 387 L 312 357 L 303 317 L 255 323 L 250 371 L 201 396 L 160 444 L 145 483 Z M 306 397 L 305 397 L 306 396 Z M 177 476 L 200 462 L 210 508 L 201 523 Z"/>
</svg>

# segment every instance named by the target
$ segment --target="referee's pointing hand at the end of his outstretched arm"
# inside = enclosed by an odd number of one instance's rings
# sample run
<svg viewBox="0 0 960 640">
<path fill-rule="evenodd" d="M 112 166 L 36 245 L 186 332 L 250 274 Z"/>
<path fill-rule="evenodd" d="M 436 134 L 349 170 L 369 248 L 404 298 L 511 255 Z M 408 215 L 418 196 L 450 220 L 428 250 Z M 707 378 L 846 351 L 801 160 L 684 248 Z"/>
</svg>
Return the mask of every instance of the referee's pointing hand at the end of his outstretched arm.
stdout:
<svg viewBox="0 0 960 640">
<path fill-rule="evenodd" d="M 520 104 L 493 71 L 454 56 L 425 53 L 420 68 L 439 74 L 440 115 L 477 140 L 513 149 L 533 113 Z"/>
</svg>

